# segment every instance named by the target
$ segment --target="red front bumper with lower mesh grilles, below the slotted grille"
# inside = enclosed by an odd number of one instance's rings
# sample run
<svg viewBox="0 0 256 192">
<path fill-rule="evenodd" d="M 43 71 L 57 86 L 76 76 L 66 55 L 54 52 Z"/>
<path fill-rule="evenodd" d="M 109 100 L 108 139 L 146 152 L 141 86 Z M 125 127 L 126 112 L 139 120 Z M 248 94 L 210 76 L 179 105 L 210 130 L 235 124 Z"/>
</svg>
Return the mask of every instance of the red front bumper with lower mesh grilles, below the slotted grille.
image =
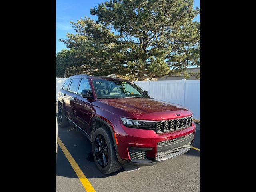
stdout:
<svg viewBox="0 0 256 192">
<path fill-rule="evenodd" d="M 119 162 L 130 166 L 151 166 L 187 152 L 194 141 L 196 125 L 192 122 L 190 127 L 160 134 L 123 124 L 114 129 Z"/>
</svg>

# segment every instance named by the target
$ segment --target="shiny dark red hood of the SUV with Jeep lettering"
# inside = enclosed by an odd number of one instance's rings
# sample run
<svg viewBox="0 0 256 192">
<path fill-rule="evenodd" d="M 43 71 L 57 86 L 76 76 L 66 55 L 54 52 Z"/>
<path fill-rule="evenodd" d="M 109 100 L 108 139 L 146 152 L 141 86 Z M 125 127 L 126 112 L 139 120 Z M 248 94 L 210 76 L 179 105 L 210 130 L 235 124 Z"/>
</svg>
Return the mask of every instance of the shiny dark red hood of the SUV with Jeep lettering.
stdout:
<svg viewBox="0 0 256 192">
<path fill-rule="evenodd" d="M 106 99 L 100 102 L 131 114 L 127 118 L 164 120 L 192 115 L 184 106 L 151 98 Z"/>
</svg>

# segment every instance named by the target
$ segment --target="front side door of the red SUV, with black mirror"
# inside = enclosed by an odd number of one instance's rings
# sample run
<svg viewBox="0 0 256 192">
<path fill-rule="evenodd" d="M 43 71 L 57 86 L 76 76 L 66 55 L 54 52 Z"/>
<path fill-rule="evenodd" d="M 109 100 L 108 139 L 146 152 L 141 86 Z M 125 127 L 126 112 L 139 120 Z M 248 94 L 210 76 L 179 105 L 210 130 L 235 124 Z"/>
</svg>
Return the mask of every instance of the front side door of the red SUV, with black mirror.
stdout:
<svg viewBox="0 0 256 192">
<path fill-rule="evenodd" d="M 76 100 L 74 102 L 74 108 L 75 108 L 75 114 L 76 114 L 76 122 L 78 123 L 78 126 L 82 128 L 85 132 L 89 134 L 90 128 L 88 127 L 88 124 L 90 122 L 90 119 L 92 118 L 92 115 L 94 114 L 94 107 L 91 104 L 92 98 L 83 98 L 81 96 L 81 92 L 83 89 L 89 89 L 90 93 L 92 95 L 92 89 L 90 88 L 90 83 L 87 78 L 82 78 L 78 93 L 76 95 Z"/>
</svg>

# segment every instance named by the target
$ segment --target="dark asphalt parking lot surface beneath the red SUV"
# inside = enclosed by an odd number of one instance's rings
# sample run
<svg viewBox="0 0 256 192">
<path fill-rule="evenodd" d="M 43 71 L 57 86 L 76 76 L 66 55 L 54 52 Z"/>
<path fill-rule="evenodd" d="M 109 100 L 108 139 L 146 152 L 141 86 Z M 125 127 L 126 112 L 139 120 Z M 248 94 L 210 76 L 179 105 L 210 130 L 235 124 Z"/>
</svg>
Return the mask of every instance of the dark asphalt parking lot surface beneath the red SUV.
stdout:
<svg viewBox="0 0 256 192">
<path fill-rule="evenodd" d="M 200 124 L 196 125 L 200 127 Z M 200 151 L 196 150 L 200 149 L 200 129 L 196 130 L 194 148 L 185 154 L 133 172 L 126 172 L 121 168 L 110 175 L 98 171 L 93 162 L 91 142 L 74 126 L 58 127 L 58 137 L 96 192 L 200 191 Z M 81 180 L 58 145 L 56 192 L 84 191 L 86 190 Z"/>
</svg>

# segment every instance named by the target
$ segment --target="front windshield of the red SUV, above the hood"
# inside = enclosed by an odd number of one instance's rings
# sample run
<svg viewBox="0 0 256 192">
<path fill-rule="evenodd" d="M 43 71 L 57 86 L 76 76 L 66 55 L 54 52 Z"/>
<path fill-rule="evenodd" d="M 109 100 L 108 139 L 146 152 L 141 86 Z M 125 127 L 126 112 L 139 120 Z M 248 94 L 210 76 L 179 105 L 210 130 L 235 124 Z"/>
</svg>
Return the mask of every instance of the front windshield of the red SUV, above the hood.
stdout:
<svg viewBox="0 0 256 192">
<path fill-rule="evenodd" d="M 106 98 L 150 98 L 135 83 L 123 80 L 92 80 L 94 90 L 98 99 Z"/>
</svg>

